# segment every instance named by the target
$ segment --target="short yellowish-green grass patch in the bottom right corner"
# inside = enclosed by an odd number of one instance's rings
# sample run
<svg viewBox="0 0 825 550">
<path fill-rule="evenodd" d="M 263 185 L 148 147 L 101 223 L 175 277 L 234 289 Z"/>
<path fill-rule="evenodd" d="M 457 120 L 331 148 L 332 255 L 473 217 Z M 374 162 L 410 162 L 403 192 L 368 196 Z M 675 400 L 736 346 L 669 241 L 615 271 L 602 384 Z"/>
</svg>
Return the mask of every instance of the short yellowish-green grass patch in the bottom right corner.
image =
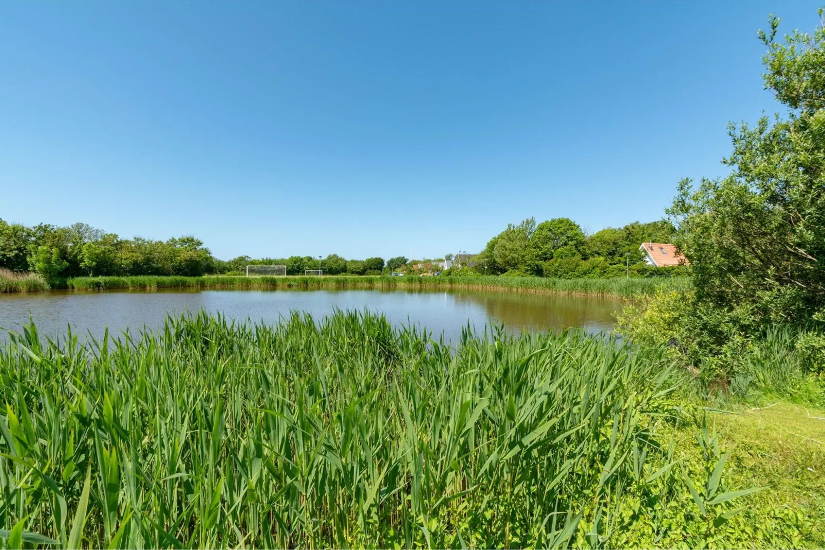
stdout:
<svg viewBox="0 0 825 550">
<path fill-rule="evenodd" d="M 766 486 L 748 497 L 748 510 L 719 529 L 717 548 L 825 548 L 825 408 L 788 401 L 766 402 L 761 408 L 733 405 L 722 412 L 705 413 L 701 403 L 687 405 L 698 423 L 708 416 L 719 445 L 730 453 L 727 482 L 735 487 Z M 715 407 L 711 407 L 715 409 Z M 663 433 L 662 433 L 663 435 Z M 674 429 L 676 458 L 700 475 L 704 462 L 690 429 Z M 678 522 L 683 506 L 672 506 L 667 516 Z M 662 540 L 675 547 L 683 540 L 695 547 L 700 541 L 681 536 Z M 620 545 L 621 546 L 621 545 Z M 643 546 L 643 545 L 642 545 Z"/>
</svg>

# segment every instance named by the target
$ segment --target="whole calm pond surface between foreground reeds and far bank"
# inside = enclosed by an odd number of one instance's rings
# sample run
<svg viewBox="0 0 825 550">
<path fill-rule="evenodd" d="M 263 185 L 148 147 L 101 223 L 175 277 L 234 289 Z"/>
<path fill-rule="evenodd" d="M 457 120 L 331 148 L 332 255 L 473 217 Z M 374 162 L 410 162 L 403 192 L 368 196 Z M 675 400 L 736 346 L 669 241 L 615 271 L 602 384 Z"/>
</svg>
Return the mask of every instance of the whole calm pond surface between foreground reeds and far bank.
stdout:
<svg viewBox="0 0 825 550">
<path fill-rule="evenodd" d="M 503 324 L 507 330 L 560 330 L 581 327 L 610 330 L 620 302 L 595 296 L 551 296 L 481 291 L 191 291 L 96 292 L 0 295 L 0 327 L 20 330 L 32 318 L 40 334 L 63 333 L 71 324 L 77 334 L 99 336 L 108 325 L 117 333 L 144 326 L 157 328 L 167 313 L 219 311 L 231 318 L 276 323 L 290 311 L 306 311 L 320 319 L 336 308 L 377 311 L 395 325 L 426 327 L 456 340 L 468 322 L 476 330 Z M 0 340 L 5 340 L 5 333 Z"/>
</svg>

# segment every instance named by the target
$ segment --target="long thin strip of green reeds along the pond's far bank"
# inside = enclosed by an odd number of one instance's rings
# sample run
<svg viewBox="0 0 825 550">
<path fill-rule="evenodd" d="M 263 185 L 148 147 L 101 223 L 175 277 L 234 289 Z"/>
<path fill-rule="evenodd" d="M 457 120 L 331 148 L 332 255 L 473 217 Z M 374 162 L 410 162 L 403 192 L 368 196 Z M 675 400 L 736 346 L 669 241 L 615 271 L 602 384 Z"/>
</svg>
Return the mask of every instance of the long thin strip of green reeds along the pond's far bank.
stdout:
<svg viewBox="0 0 825 550">
<path fill-rule="evenodd" d="M 544 277 L 76 277 L 68 279 L 72 290 L 157 290 L 160 288 L 474 288 L 521 292 L 554 292 L 634 296 L 658 289 L 690 287 L 687 277 L 609 279 L 553 279 Z"/>
</svg>

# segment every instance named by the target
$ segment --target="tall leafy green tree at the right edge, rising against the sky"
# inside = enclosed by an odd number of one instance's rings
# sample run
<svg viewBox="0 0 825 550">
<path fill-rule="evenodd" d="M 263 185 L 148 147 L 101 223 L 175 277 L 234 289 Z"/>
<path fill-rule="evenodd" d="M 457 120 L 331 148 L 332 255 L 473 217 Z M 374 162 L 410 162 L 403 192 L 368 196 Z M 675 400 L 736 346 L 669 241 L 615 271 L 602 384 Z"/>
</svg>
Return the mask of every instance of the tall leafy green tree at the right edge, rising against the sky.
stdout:
<svg viewBox="0 0 825 550">
<path fill-rule="evenodd" d="M 757 325 L 825 308 L 825 29 L 779 41 L 778 26 L 771 17 L 760 32 L 763 78 L 788 116 L 729 126 L 733 173 L 682 180 L 668 210 L 698 303 L 749 311 Z"/>
</svg>

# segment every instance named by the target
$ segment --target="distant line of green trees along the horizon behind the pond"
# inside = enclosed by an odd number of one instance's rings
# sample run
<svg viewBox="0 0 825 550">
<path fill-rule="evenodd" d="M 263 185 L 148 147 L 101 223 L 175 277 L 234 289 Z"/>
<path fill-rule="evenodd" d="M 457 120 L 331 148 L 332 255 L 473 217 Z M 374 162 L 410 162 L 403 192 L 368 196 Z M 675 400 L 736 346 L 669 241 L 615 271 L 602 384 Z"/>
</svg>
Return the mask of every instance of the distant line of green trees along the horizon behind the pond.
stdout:
<svg viewBox="0 0 825 550">
<path fill-rule="evenodd" d="M 490 239 L 472 261 L 464 260 L 451 273 L 490 275 L 537 275 L 544 277 L 610 277 L 624 274 L 625 263 L 634 273 L 643 268 L 639 244 L 645 240 L 670 242 L 673 226 L 667 221 L 634 222 L 620 229 L 608 228 L 586 235 L 568 218 L 555 218 L 538 225 L 530 218 Z M 446 254 L 445 258 L 468 258 L 470 254 Z M 427 263 L 440 260 L 422 260 Z M 0 219 L 0 268 L 13 272 L 35 272 L 54 285 L 68 277 L 106 275 L 244 274 L 247 265 L 284 265 L 288 275 L 322 269 L 328 275 L 380 275 L 395 271 L 414 272 L 416 260 L 396 256 L 347 259 L 338 254 L 252 258 L 214 258 L 203 241 L 192 235 L 167 240 L 123 239 L 85 223 L 68 227 L 50 224 L 26 226 Z"/>
</svg>

